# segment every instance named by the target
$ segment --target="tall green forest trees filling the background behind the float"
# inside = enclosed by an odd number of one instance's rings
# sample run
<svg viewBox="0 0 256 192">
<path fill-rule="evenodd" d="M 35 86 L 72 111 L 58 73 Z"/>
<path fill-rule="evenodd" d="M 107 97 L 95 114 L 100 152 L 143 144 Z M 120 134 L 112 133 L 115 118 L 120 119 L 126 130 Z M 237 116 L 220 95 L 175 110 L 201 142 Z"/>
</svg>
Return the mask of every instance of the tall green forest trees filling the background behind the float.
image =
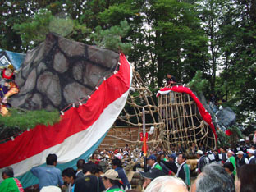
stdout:
<svg viewBox="0 0 256 192">
<path fill-rule="evenodd" d="M 245 134 L 255 129 L 256 0 L 0 2 L 0 48 L 26 53 L 50 31 L 121 49 L 153 92 L 167 72 L 195 87 L 207 80 L 197 89 L 225 101 Z"/>
</svg>

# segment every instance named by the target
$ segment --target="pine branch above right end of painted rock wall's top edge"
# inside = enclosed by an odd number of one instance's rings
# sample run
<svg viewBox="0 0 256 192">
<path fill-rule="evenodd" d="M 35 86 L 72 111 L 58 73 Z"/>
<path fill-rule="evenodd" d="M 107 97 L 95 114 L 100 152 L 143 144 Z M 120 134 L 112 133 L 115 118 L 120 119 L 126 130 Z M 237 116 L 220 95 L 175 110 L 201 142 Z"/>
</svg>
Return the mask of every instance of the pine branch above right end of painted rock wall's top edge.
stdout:
<svg viewBox="0 0 256 192">
<path fill-rule="evenodd" d="M 103 30 L 101 26 L 97 26 L 95 33 L 90 35 L 98 48 L 107 48 L 116 52 L 126 53 L 131 48 L 131 43 L 122 43 L 121 37 L 126 35 L 130 29 L 127 21 L 121 21 L 120 25 L 112 26 L 108 30 Z"/>
</svg>

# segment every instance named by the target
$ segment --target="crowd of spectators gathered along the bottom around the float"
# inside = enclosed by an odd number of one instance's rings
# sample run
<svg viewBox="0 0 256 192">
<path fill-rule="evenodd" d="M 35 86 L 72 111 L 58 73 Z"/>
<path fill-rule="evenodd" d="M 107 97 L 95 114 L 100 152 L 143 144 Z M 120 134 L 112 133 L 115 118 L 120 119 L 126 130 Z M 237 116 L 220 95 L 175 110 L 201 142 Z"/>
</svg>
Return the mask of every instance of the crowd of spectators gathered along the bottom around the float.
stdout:
<svg viewBox="0 0 256 192">
<path fill-rule="evenodd" d="M 145 192 L 153 191 L 255 191 L 256 190 L 256 158 L 254 145 L 238 145 L 235 149 L 220 148 L 204 150 L 202 146 L 191 144 L 190 149 L 183 149 L 177 144 L 176 151 L 166 153 L 156 149 L 148 158 L 147 165 L 136 163 L 134 171 L 138 171 Z M 132 189 L 124 167 L 143 157 L 136 154 L 138 149 L 131 150 L 128 145 L 124 149 L 104 149 L 94 153 L 88 161 L 80 159 L 75 169 L 66 167 L 58 169 L 57 155 L 49 154 L 45 167 L 33 167 L 31 173 L 39 179 L 40 191 L 68 192 L 114 192 L 140 191 Z M 196 157 L 197 173 L 191 182 L 191 164 L 187 157 Z M 101 166 L 108 163 L 107 170 Z M 237 179 L 235 176 L 237 175 Z M 2 170 L 4 179 L 0 191 L 24 191 L 21 182 L 14 177 L 11 167 Z"/>
</svg>

